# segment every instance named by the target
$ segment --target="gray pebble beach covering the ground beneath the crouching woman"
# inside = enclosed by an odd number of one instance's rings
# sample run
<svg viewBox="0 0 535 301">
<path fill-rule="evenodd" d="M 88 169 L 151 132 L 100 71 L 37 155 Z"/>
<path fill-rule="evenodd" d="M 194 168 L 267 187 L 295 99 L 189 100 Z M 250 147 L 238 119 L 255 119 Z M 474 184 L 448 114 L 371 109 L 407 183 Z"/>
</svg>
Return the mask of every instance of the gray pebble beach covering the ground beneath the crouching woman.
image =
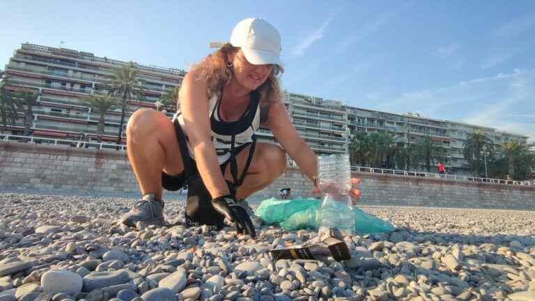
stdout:
<svg viewBox="0 0 535 301">
<path fill-rule="evenodd" d="M 535 300 L 535 212 L 359 206 L 393 233 L 346 236 L 350 261 L 278 260 L 316 231 L 257 237 L 117 221 L 131 197 L 0 193 L 0 301 Z M 253 209 L 258 202 L 251 203 Z"/>
</svg>

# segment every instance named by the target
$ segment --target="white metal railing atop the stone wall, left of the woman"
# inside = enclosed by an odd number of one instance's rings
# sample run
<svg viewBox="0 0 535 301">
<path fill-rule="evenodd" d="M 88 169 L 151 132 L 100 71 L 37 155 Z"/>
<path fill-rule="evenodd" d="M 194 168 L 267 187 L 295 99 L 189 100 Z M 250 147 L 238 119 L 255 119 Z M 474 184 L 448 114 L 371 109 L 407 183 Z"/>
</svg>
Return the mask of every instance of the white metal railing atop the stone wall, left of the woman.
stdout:
<svg viewBox="0 0 535 301">
<path fill-rule="evenodd" d="M 107 143 L 98 143 L 98 142 L 92 142 L 92 141 L 77 141 L 77 140 L 68 140 L 68 139 L 19 136 L 19 135 L 12 135 L 12 134 L 0 134 L 0 140 L 1 141 L 17 141 L 17 142 L 22 142 L 22 143 L 33 143 L 33 144 L 63 145 L 63 146 L 71 146 L 75 148 L 98 148 L 98 149 L 112 149 L 112 150 L 117 150 L 117 151 L 126 151 L 126 146 L 123 144 L 107 144 Z"/>
</svg>

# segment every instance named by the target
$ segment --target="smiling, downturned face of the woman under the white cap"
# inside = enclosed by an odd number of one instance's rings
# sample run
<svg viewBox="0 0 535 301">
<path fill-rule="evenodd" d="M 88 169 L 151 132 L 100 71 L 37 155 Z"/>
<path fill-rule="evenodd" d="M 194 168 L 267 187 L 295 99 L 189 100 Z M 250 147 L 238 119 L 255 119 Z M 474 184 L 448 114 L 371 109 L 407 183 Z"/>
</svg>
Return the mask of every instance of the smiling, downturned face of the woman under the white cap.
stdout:
<svg viewBox="0 0 535 301">
<path fill-rule="evenodd" d="M 253 65 L 239 50 L 233 57 L 234 76 L 238 84 L 249 90 L 256 90 L 270 76 L 273 65 Z"/>
</svg>

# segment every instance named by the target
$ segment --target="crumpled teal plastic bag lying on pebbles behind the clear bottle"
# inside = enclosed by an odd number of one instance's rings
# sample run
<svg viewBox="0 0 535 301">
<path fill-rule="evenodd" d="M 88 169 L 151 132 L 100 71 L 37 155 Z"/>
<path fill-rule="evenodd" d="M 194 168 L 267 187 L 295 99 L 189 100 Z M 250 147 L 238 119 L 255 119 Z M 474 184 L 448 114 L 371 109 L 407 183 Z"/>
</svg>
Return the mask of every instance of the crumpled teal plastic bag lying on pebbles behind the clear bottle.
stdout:
<svg viewBox="0 0 535 301">
<path fill-rule="evenodd" d="M 389 222 L 365 213 L 359 208 L 353 207 L 351 211 L 355 219 L 355 233 L 389 233 L 395 229 Z M 321 222 L 320 200 L 266 199 L 256 209 L 256 215 L 267 224 L 279 224 L 285 230 L 317 230 Z"/>
</svg>

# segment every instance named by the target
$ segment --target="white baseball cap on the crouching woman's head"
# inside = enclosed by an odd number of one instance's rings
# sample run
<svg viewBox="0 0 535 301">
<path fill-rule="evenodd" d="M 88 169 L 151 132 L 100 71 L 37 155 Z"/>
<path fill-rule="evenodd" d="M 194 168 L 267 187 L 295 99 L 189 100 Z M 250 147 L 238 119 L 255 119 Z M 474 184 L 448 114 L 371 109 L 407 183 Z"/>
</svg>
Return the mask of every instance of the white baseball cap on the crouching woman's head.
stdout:
<svg viewBox="0 0 535 301">
<path fill-rule="evenodd" d="M 274 26 L 261 18 L 240 21 L 232 30 L 234 47 L 240 47 L 245 59 L 253 65 L 274 64 L 284 72 L 281 63 L 281 35 Z M 223 43 L 210 43 L 210 47 L 222 47 Z"/>
</svg>

